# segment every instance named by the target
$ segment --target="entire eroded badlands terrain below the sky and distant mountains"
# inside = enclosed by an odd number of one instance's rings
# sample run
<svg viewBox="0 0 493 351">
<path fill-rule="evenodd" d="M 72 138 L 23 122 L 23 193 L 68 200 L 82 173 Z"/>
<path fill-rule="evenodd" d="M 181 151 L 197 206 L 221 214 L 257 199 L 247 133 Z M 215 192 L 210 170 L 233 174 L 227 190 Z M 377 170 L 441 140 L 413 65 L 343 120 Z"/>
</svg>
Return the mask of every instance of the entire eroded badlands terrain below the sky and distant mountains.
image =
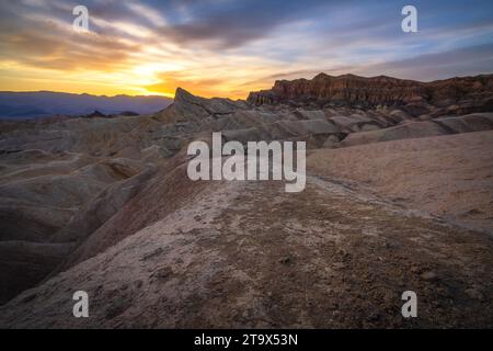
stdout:
<svg viewBox="0 0 493 351">
<path fill-rule="evenodd" d="M 1 122 L 0 326 L 493 326 L 485 77 L 456 107 L 179 89 L 151 115 Z M 307 140 L 307 189 L 191 181 L 187 144 L 217 131 Z M 419 318 L 400 313 L 408 290 Z"/>
</svg>

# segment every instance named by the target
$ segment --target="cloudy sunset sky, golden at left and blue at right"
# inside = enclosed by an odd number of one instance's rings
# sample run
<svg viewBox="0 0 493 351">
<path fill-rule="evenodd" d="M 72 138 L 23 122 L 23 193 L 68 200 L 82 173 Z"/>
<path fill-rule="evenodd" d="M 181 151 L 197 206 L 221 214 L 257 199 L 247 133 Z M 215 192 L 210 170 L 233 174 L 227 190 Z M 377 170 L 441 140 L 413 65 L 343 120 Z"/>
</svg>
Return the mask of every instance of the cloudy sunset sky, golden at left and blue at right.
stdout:
<svg viewBox="0 0 493 351">
<path fill-rule="evenodd" d="M 89 9 L 90 32 L 72 29 Z M 417 8 L 403 33 L 401 9 Z M 276 79 L 493 72 L 493 1 L 0 0 L 0 90 L 245 98 Z"/>
</svg>

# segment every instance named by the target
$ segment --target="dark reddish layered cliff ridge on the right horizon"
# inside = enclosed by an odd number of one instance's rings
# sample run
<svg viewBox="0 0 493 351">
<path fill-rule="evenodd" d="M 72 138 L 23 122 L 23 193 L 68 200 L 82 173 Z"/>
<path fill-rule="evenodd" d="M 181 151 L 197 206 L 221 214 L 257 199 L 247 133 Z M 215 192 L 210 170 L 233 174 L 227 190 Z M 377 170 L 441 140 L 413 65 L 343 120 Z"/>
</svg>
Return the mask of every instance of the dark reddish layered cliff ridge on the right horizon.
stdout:
<svg viewBox="0 0 493 351">
<path fill-rule="evenodd" d="M 278 80 L 271 90 L 250 93 L 248 101 L 255 105 L 307 101 L 362 106 L 458 103 L 470 107 L 467 112 L 479 112 L 491 110 L 493 75 L 420 82 L 386 76 L 320 73 L 311 80 Z"/>
</svg>

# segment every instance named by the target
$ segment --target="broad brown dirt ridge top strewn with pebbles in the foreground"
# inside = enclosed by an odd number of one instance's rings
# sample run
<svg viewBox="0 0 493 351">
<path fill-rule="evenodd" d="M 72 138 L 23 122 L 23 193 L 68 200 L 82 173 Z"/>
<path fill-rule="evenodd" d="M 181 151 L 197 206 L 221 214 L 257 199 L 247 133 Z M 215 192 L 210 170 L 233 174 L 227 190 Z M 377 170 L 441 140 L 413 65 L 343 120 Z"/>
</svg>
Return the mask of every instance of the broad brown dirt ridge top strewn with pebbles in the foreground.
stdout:
<svg viewBox="0 0 493 351">
<path fill-rule="evenodd" d="M 0 327 L 492 327 L 493 240 L 309 177 L 196 202 L 0 307 Z M 90 296 L 90 318 L 71 294 Z M 401 316 L 416 292 L 417 318 Z"/>
</svg>

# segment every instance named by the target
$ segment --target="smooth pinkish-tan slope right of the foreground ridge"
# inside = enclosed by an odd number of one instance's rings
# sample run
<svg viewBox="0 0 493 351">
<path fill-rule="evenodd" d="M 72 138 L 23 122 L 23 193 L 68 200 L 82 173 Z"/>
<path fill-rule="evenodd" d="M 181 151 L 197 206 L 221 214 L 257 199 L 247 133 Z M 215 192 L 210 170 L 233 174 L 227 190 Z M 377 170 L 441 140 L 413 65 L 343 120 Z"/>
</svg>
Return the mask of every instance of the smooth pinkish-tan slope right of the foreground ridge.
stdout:
<svg viewBox="0 0 493 351">
<path fill-rule="evenodd" d="M 320 149 L 307 168 L 493 235 L 493 132 Z"/>
</svg>

